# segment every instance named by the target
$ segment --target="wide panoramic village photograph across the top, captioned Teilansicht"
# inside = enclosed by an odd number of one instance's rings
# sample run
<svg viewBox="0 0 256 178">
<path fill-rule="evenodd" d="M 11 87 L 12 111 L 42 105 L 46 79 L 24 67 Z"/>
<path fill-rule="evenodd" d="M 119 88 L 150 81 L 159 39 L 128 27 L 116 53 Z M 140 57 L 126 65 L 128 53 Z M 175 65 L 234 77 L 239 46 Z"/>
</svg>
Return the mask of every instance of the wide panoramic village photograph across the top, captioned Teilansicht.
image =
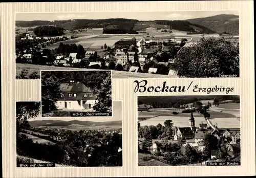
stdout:
<svg viewBox="0 0 256 178">
<path fill-rule="evenodd" d="M 23 13 L 15 25 L 16 79 L 79 68 L 113 78 L 239 77 L 238 12 Z"/>
</svg>

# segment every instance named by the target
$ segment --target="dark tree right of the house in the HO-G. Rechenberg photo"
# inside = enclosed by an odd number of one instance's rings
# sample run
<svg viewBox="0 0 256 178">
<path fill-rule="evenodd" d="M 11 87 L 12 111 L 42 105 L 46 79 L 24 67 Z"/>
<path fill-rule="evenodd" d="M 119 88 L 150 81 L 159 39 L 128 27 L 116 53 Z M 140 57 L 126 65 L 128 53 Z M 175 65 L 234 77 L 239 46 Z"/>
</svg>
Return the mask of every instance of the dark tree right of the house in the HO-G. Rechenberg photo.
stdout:
<svg viewBox="0 0 256 178">
<path fill-rule="evenodd" d="M 102 83 L 101 88 L 95 92 L 98 102 L 93 106 L 93 109 L 100 113 L 112 112 L 112 92 L 111 92 L 111 76 L 106 77 Z"/>
</svg>

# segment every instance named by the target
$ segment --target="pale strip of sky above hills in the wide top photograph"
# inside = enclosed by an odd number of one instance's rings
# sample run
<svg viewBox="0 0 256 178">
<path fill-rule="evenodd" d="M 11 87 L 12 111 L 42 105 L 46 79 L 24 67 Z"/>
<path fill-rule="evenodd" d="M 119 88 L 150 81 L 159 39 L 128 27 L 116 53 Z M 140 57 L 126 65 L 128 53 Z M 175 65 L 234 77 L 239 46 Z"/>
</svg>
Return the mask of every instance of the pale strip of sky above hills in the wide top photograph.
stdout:
<svg viewBox="0 0 256 178">
<path fill-rule="evenodd" d="M 129 18 L 138 20 L 186 20 L 220 14 L 239 15 L 238 11 L 177 11 L 177 12 L 79 12 L 79 13 L 17 13 L 16 20 L 69 20 Z"/>
</svg>

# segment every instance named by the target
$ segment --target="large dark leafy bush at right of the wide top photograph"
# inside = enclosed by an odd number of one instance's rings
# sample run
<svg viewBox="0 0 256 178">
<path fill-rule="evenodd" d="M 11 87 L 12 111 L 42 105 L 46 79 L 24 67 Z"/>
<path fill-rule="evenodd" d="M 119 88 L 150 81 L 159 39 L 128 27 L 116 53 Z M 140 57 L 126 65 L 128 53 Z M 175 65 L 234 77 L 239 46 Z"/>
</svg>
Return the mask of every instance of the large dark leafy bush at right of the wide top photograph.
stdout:
<svg viewBox="0 0 256 178">
<path fill-rule="evenodd" d="M 239 42 L 202 37 L 198 43 L 180 49 L 175 62 L 175 70 L 183 77 L 239 77 Z"/>
</svg>

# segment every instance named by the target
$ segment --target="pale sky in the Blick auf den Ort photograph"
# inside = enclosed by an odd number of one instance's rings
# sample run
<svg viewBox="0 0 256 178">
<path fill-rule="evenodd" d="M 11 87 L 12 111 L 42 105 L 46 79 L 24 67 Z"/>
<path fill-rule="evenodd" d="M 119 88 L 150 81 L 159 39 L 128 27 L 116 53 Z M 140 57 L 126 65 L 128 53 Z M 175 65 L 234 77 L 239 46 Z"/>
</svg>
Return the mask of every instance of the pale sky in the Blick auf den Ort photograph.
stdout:
<svg viewBox="0 0 256 178">
<path fill-rule="evenodd" d="M 54 120 L 54 121 L 72 121 L 72 120 L 80 120 L 80 121 L 93 121 L 93 122 L 107 122 L 107 121 L 120 121 L 122 120 L 122 101 L 113 101 L 113 117 L 69 117 L 69 118 L 48 118 L 48 117 L 40 117 L 37 116 L 33 119 L 28 119 L 28 121 L 35 120 Z"/>
</svg>

